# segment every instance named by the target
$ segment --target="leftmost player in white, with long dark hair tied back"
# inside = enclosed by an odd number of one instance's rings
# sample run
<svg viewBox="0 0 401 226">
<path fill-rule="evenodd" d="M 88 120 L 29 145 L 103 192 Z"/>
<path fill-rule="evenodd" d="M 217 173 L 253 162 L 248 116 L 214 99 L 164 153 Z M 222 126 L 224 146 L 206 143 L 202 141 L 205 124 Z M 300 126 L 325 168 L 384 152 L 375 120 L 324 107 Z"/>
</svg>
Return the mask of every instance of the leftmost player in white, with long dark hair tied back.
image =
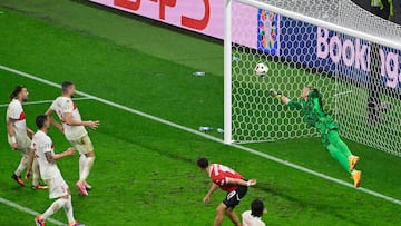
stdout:
<svg viewBox="0 0 401 226">
<path fill-rule="evenodd" d="M 11 176 L 11 178 L 20 186 L 25 186 L 21 174 L 27 168 L 29 148 L 31 145 L 30 137 L 33 136 L 33 131 L 27 127 L 26 115 L 22 108 L 22 102 L 28 100 L 28 96 L 29 92 L 25 86 L 17 86 L 10 95 L 11 102 L 7 108 L 8 143 L 13 150 L 18 150 L 22 155 L 17 170 Z M 38 161 L 33 160 L 31 164 L 33 164 L 32 188 L 47 189 L 47 186 L 39 184 L 40 176 Z"/>
</svg>

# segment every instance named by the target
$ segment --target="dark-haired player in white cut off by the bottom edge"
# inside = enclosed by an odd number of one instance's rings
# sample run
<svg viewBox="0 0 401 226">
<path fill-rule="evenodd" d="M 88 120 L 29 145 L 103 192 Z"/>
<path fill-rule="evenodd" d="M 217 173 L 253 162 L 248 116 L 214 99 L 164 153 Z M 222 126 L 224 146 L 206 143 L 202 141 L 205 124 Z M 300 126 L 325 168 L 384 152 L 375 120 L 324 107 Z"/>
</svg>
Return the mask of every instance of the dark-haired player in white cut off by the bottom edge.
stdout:
<svg viewBox="0 0 401 226">
<path fill-rule="evenodd" d="M 251 210 L 246 210 L 242 214 L 244 226 L 265 226 L 262 222 L 262 215 L 267 214 L 267 209 L 260 199 L 255 199 L 251 204 Z"/>
</svg>

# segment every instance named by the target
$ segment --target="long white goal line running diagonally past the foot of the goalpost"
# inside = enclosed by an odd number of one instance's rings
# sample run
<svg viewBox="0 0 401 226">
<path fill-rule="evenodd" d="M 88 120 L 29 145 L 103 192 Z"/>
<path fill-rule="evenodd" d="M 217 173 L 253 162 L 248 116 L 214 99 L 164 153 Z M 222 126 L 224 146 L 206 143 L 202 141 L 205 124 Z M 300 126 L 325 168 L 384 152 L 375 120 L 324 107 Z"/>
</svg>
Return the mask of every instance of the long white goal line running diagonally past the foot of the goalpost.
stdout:
<svg viewBox="0 0 401 226">
<path fill-rule="evenodd" d="M 26 78 L 29 78 L 29 79 L 32 79 L 32 80 L 36 80 L 36 81 L 39 81 L 39 82 L 42 82 L 42 83 L 47 83 L 47 85 L 52 86 L 52 87 L 57 87 L 57 88 L 60 87 L 60 85 L 55 83 L 55 82 L 52 82 L 52 81 L 49 81 L 49 80 L 46 80 L 46 79 L 42 79 L 42 78 L 39 78 L 39 77 L 36 77 L 36 76 L 32 76 L 32 75 L 29 75 L 29 73 L 26 73 L 26 72 L 22 72 L 22 71 L 19 71 L 19 70 L 16 70 L 16 69 L 6 67 L 6 66 L 1 66 L 1 65 L 0 65 L 0 69 L 6 70 L 6 71 L 9 71 L 9 72 L 12 72 L 12 73 L 16 73 L 16 75 L 19 75 L 19 76 L 22 76 L 22 77 L 26 77 Z M 146 112 L 143 112 L 143 111 L 139 111 L 139 110 L 136 110 L 136 109 L 133 109 L 133 108 L 129 108 L 129 107 L 119 105 L 119 104 L 117 104 L 117 102 L 113 102 L 113 101 L 110 101 L 110 100 L 106 100 L 106 99 L 102 99 L 102 98 L 100 98 L 100 97 L 96 97 L 96 96 L 92 96 L 92 95 L 89 95 L 89 94 L 86 94 L 86 92 L 82 92 L 82 91 L 77 91 L 77 94 L 78 94 L 78 95 L 81 95 L 81 96 L 84 96 L 84 97 L 88 97 L 88 98 L 91 98 L 91 99 L 94 99 L 94 100 L 97 100 L 97 101 L 99 101 L 99 102 L 102 102 L 102 104 L 105 104 L 105 105 L 108 105 L 108 106 L 111 106 L 111 107 L 116 107 L 116 108 L 119 108 L 119 109 L 121 109 L 121 110 L 125 110 L 125 111 L 128 111 L 128 112 L 131 112 L 131 114 L 135 114 L 135 115 L 145 117 L 145 118 L 148 118 L 148 119 L 150 119 L 150 120 L 155 120 L 155 121 L 157 121 L 157 122 L 160 122 L 160 124 L 164 124 L 164 125 L 167 125 L 167 126 L 170 126 L 170 127 L 174 127 L 174 128 L 177 128 L 177 129 L 180 129 L 180 130 L 184 130 L 184 131 L 187 131 L 187 132 L 190 132 L 190 134 L 200 136 L 200 137 L 204 137 L 204 138 L 206 138 L 206 139 L 209 139 L 209 140 L 213 140 L 213 141 L 221 143 L 221 144 L 226 145 L 226 144 L 224 143 L 224 140 L 222 140 L 222 139 L 219 139 L 219 138 L 217 138 L 217 137 L 213 137 L 213 136 L 211 136 L 211 135 L 207 135 L 207 134 L 205 134 L 205 132 L 200 132 L 200 131 L 198 131 L 198 130 L 196 130 L 196 129 L 192 129 L 192 128 L 188 128 L 188 127 L 185 127 L 185 126 L 175 124 L 175 122 L 173 122 L 173 121 L 169 121 L 169 120 L 166 120 L 166 119 L 163 119 L 163 118 L 158 118 L 158 117 L 156 117 L 156 116 L 153 116 L 153 115 L 149 115 L 149 114 L 146 114 Z M 321 174 L 321 173 L 319 173 L 319 171 L 315 171 L 315 170 L 312 170 L 312 169 L 302 167 L 302 166 L 300 166 L 300 165 L 292 164 L 292 163 L 290 163 L 290 161 L 287 161 L 287 160 L 283 160 L 283 159 L 281 159 L 281 158 L 276 158 L 276 157 L 271 156 L 271 155 L 267 155 L 267 154 L 265 154 L 265 153 L 262 153 L 262 151 L 258 151 L 258 150 L 255 150 L 255 149 L 252 149 L 252 148 L 242 146 L 242 145 L 237 145 L 237 144 L 232 144 L 232 145 L 228 145 L 228 146 L 232 146 L 232 147 L 237 148 L 237 149 L 241 149 L 241 150 L 243 150 L 243 151 L 246 151 L 246 153 L 250 153 L 250 154 L 253 154 L 253 155 L 256 155 L 256 156 L 260 156 L 260 157 L 270 159 L 270 160 L 272 160 L 272 161 L 275 161 L 275 163 L 278 163 L 278 164 L 288 166 L 288 167 L 291 167 L 291 168 L 294 168 L 294 169 L 304 171 L 304 173 L 306 173 L 306 174 L 311 174 L 311 175 L 314 175 L 314 176 L 316 176 L 316 177 L 320 177 L 320 178 L 323 178 L 323 179 L 326 179 L 326 180 L 336 183 L 336 184 L 339 184 L 339 185 L 343 185 L 343 186 L 345 186 L 345 187 L 353 188 L 353 185 L 352 185 L 351 183 L 346 183 L 346 181 L 340 180 L 340 179 L 338 179 L 338 178 L 334 178 L 334 177 L 331 177 L 331 176 Z M 354 188 L 353 188 L 353 189 L 354 189 Z M 368 189 L 368 188 L 359 187 L 359 188 L 356 188 L 356 190 L 360 190 L 360 191 L 362 191 L 362 193 L 365 193 L 365 194 L 375 196 L 375 197 L 378 197 L 378 198 L 388 200 L 388 202 L 393 203 L 393 204 L 397 204 L 397 205 L 401 205 L 401 200 L 399 200 L 399 199 L 397 199 L 397 198 L 392 198 L 392 197 L 390 197 L 390 196 L 382 195 L 382 194 L 376 193 L 376 191 L 373 191 L 373 190 L 370 190 L 370 189 Z"/>
</svg>

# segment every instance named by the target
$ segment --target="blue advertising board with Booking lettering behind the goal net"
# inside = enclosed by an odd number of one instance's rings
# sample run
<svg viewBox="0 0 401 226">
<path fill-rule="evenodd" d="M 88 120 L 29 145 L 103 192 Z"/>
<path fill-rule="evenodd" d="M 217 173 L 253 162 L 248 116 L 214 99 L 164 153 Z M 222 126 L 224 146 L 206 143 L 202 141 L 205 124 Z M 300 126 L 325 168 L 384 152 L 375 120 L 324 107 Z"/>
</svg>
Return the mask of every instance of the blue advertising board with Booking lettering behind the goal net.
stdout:
<svg viewBox="0 0 401 226">
<path fill-rule="evenodd" d="M 264 10 L 260 10 L 257 22 L 260 51 L 301 62 L 311 68 L 338 72 L 358 82 L 369 80 L 371 46 L 368 41 Z M 277 32 L 271 41 L 273 45 L 266 45 L 270 42 L 265 41 L 268 37 L 273 37 L 263 33 L 267 28 L 266 22 L 276 24 L 274 29 Z M 380 75 L 383 85 L 401 89 L 401 51 L 380 46 L 376 57 L 380 57 L 381 61 Z"/>
</svg>

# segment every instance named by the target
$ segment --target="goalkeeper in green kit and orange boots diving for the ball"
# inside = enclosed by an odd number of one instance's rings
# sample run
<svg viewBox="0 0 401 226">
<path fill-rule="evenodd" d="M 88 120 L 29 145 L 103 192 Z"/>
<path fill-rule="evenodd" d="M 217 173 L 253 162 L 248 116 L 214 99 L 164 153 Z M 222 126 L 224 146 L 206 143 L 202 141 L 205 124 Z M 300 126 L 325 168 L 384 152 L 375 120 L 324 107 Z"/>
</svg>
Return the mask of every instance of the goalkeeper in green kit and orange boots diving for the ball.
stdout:
<svg viewBox="0 0 401 226">
<path fill-rule="evenodd" d="M 362 176 L 362 173 L 355 169 L 359 157 L 352 155 L 346 144 L 342 141 L 339 136 L 338 124 L 330 115 L 324 112 L 322 95 L 319 89 L 313 85 L 307 85 L 302 89 L 302 100 L 300 101 L 291 100 L 288 97 L 274 89 L 271 89 L 270 94 L 290 108 L 302 110 L 304 121 L 317 129 L 324 147 L 330 151 L 331 156 L 335 158 L 349 174 L 351 174 L 354 187 L 358 187 Z"/>
</svg>

